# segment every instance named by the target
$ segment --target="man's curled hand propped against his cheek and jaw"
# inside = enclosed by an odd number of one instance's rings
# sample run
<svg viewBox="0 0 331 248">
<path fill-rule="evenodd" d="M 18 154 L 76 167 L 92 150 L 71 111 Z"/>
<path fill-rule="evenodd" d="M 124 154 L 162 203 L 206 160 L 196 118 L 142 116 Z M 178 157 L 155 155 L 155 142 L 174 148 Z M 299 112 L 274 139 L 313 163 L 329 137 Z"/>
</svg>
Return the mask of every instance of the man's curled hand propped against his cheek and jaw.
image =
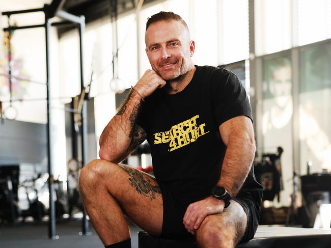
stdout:
<svg viewBox="0 0 331 248">
<path fill-rule="evenodd" d="M 145 98 L 151 95 L 157 88 L 162 88 L 165 85 L 166 81 L 155 71 L 147 70 L 134 86 L 134 89 Z"/>
</svg>

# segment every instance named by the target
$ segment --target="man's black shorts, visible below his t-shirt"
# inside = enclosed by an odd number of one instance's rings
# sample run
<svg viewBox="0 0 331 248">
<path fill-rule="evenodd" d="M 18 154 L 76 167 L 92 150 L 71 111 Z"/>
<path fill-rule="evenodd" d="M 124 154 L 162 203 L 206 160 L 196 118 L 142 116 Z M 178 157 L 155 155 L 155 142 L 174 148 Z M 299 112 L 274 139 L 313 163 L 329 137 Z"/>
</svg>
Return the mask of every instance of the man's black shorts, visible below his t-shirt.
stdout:
<svg viewBox="0 0 331 248">
<path fill-rule="evenodd" d="M 190 202 L 187 200 L 176 200 L 166 186 L 162 184 L 159 184 L 159 186 L 163 199 L 163 224 L 160 237 L 164 239 L 189 239 L 194 237 L 186 230 L 183 224 L 184 214 Z M 256 233 L 259 222 L 259 211 L 250 197 L 236 197 L 234 201 L 242 206 L 247 215 L 246 231 L 240 243 L 247 242 Z"/>
</svg>

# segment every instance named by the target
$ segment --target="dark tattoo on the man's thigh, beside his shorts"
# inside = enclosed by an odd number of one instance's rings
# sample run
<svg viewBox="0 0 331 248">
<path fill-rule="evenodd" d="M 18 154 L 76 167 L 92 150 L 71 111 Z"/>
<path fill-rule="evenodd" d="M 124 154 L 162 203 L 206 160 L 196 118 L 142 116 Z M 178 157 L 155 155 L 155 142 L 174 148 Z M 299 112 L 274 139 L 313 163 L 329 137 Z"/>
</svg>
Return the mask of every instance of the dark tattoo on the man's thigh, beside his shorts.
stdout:
<svg viewBox="0 0 331 248">
<path fill-rule="evenodd" d="M 151 200 L 153 200 L 155 199 L 155 194 L 161 194 L 160 187 L 158 185 L 152 185 L 151 179 L 147 176 L 145 176 L 145 179 L 143 177 L 143 173 L 132 169 L 129 166 L 125 166 L 124 164 L 119 164 L 119 167 L 130 175 L 128 181 L 140 195 L 151 198 Z"/>
</svg>

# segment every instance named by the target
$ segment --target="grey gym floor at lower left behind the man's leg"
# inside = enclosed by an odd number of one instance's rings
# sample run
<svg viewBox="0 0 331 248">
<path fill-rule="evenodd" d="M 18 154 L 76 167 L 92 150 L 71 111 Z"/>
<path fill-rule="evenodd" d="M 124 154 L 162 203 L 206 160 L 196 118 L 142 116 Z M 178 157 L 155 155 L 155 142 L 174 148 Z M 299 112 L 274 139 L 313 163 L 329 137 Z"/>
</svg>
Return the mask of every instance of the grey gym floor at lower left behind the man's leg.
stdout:
<svg viewBox="0 0 331 248">
<path fill-rule="evenodd" d="M 134 223 L 129 222 L 131 230 L 132 248 L 138 248 L 138 232 L 141 230 Z M 47 237 L 47 223 L 18 223 L 12 226 L 0 226 L 1 248 L 102 248 L 98 235 L 90 224 L 91 235 L 79 236 L 80 221 L 57 223 L 56 234 L 59 239 L 50 240 Z"/>
</svg>

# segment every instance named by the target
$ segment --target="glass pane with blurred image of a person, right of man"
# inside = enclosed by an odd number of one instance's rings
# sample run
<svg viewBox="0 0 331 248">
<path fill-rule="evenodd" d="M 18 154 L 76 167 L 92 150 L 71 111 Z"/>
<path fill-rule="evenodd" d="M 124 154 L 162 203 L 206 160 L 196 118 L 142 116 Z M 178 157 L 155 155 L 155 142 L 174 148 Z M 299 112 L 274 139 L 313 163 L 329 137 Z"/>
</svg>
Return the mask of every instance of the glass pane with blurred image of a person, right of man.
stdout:
<svg viewBox="0 0 331 248">
<path fill-rule="evenodd" d="M 263 60 L 263 152 L 275 153 L 282 147 L 282 174 L 284 191 L 281 203 L 289 204 L 292 192 L 292 71 L 291 57 Z"/>
</svg>

